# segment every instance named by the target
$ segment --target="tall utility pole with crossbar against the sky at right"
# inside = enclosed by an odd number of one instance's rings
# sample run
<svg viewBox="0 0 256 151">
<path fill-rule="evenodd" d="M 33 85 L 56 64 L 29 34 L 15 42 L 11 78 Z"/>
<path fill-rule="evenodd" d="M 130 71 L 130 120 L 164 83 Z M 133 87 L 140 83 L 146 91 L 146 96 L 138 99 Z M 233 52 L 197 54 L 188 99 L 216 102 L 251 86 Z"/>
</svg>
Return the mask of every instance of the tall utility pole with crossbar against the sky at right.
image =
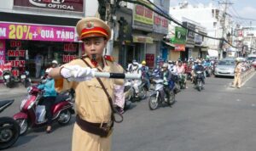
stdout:
<svg viewBox="0 0 256 151">
<path fill-rule="evenodd" d="M 218 4 L 224 4 L 224 12 L 223 12 L 223 22 L 222 22 L 222 41 L 219 42 L 219 59 L 223 58 L 223 46 L 224 46 L 224 33 L 226 32 L 226 27 L 225 27 L 225 23 L 226 23 L 226 12 L 227 12 L 227 8 L 229 4 L 233 4 L 228 2 L 228 0 L 225 0 L 225 2 L 218 2 Z"/>
</svg>

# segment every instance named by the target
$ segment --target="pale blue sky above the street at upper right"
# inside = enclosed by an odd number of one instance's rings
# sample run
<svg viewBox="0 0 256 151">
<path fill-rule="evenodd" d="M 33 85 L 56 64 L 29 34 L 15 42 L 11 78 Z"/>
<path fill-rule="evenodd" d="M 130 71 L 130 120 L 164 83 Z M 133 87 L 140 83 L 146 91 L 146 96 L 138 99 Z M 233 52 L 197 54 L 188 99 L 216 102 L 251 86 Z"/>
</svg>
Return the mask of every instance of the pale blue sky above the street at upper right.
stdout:
<svg viewBox="0 0 256 151">
<path fill-rule="evenodd" d="M 197 3 L 213 3 L 215 6 L 218 6 L 218 1 L 224 2 L 224 0 L 187 0 L 191 4 Z M 178 3 L 183 2 L 183 0 L 170 0 L 170 5 L 176 6 Z M 233 3 L 228 8 L 228 13 L 232 16 L 242 17 L 242 18 L 249 18 L 252 20 L 252 25 L 256 26 L 256 0 L 229 0 L 229 2 Z M 236 22 L 240 23 L 241 25 L 250 25 L 250 20 L 240 20 L 236 19 Z"/>
</svg>

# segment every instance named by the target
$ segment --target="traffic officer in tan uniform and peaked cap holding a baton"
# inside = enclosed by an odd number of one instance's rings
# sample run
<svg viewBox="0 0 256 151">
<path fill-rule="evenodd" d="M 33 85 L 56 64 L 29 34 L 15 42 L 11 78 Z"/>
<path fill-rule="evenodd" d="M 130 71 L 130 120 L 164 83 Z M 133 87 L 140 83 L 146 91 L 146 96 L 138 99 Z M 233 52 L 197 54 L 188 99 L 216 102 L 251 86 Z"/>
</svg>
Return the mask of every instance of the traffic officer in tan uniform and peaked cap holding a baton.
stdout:
<svg viewBox="0 0 256 151">
<path fill-rule="evenodd" d="M 96 78 L 94 72 L 118 72 L 109 56 L 103 56 L 111 37 L 109 26 L 95 17 L 79 20 L 76 25 L 85 54 L 49 75 L 64 78 L 62 89 L 76 93 L 76 123 L 73 127 L 73 151 L 109 151 L 113 131 L 113 84 L 123 85 L 124 80 Z M 72 72 L 71 72 L 72 71 Z"/>
</svg>

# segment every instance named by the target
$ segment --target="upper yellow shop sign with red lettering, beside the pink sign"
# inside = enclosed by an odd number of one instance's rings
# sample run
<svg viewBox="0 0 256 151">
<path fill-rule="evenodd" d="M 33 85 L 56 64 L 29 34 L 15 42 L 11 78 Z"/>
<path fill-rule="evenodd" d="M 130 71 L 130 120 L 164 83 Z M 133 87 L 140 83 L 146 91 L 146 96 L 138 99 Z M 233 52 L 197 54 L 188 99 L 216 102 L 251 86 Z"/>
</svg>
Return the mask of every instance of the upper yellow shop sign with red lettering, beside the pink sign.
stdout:
<svg viewBox="0 0 256 151">
<path fill-rule="evenodd" d="M 144 0 L 138 0 L 138 1 L 148 5 L 151 8 L 153 8 L 153 6 L 150 3 L 148 3 Z M 141 23 L 144 23 L 144 24 L 147 24 L 147 25 L 153 25 L 154 24 L 153 11 L 144 7 L 144 6 L 142 6 L 142 5 L 135 4 L 134 9 L 133 9 L 133 14 L 134 14 L 133 18 L 137 22 L 141 22 Z"/>
</svg>

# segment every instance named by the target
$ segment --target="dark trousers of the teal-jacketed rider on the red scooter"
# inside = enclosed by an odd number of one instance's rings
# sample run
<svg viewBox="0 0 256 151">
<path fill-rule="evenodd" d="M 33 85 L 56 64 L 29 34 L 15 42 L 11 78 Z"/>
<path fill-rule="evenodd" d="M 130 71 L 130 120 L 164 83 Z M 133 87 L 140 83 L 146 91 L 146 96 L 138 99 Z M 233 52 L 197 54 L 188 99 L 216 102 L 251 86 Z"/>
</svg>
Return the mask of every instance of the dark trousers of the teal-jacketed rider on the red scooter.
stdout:
<svg viewBox="0 0 256 151">
<path fill-rule="evenodd" d="M 45 111 L 46 111 L 46 118 L 47 120 L 47 126 L 51 126 L 52 123 L 52 113 L 51 113 L 51 107 L 55 103 L 56 97 L 44 97 L 43 105 L 45 105 Z"/>
</svg>

